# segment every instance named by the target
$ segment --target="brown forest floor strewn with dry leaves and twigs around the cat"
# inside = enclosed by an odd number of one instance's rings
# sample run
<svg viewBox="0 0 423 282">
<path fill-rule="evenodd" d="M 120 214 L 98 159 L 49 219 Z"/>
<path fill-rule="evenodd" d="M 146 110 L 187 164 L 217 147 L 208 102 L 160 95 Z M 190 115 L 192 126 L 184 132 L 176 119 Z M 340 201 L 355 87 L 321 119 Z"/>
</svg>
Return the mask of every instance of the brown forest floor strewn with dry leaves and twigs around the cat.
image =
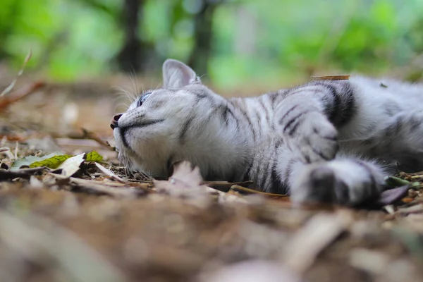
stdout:
<svg viewBox="0 0 423 282">
<path fill-rule="evenodd" d="M 419 173 L 372 209 L 293 207 L 185 164 L 169 181 L 128 174 L 109 128 L 120 79 L 23 81 L 0 97 L 1 281 L 423 280 Z M 51 153 L 77 157 L 23 159 Z"/>
</svg>

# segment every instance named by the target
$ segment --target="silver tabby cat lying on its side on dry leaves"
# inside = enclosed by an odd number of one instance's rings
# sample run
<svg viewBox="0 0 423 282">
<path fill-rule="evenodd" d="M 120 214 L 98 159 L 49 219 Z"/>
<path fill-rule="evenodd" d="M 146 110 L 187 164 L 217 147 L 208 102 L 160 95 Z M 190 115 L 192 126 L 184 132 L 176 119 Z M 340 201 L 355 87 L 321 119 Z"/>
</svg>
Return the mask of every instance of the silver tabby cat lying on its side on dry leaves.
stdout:
<svg viewBox="0 0 423 282">
<path fill-rule="evenodd" d="M 156 178 L 186 160 L 206 180 L 357 205 L 396 168 L 423 170 L 423 85 L 351 77 L 225 99 L 171 59 L 163 79 L 111 122 L 121 161 Z"/>
</svg>

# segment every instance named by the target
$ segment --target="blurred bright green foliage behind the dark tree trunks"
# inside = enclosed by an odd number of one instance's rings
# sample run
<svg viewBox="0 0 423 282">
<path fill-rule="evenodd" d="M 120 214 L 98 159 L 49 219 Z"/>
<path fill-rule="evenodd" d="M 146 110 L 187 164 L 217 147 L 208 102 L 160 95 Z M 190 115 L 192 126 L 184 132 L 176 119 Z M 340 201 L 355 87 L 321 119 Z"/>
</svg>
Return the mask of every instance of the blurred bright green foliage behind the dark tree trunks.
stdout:
<svg viewBox="0 0 423 282">
<path fill-rule="evenodd" d="M 423 51 L 423 0 L 145 0 L 137 37 L 154 53 L 145 71 L 158 72 L 168 57 L 195 59 L 195 16 L 204 1 L 215 5 L 204 72 L 216 85 L 265 84 L 333 69 L 387 73 Z M 18 67 L 32 49 L 27 68 L 55 80 L 118 71 L 124 5 L 1 0 L 0 60 Z"/>
</svg>

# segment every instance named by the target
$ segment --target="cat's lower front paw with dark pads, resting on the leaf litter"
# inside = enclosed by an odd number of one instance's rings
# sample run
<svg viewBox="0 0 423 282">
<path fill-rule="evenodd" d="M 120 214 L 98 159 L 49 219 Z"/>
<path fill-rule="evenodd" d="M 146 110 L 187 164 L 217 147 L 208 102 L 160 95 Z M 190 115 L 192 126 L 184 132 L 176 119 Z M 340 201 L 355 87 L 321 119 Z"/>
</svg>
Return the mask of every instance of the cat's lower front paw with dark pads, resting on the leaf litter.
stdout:
<svg viewBox="0 0 423 282">
<path fill-rule="evenodd" d="M 290 174 L 290 197 L 294 203 L 356 206 L 381 194 L 385 175 L 379 164 L 361 159 L 297 164 Z"/>
</svg>

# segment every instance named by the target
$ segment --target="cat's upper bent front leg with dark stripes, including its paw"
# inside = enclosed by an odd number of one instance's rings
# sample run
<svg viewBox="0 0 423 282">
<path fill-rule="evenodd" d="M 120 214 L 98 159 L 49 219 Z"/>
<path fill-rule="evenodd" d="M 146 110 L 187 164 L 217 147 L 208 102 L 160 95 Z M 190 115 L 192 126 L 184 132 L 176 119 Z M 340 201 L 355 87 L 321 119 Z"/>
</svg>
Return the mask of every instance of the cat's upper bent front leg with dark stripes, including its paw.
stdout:
<svg viewBox="0 0 423 282">
<path fill-rule="evenodd" d="M 275 128 L 286 145 L 311 164 L 329 161 L 338 152 L 338 130 L 356 113 L 355 92 L 349 82 L 310 82 L 279 102 Z"/>
</svg>

